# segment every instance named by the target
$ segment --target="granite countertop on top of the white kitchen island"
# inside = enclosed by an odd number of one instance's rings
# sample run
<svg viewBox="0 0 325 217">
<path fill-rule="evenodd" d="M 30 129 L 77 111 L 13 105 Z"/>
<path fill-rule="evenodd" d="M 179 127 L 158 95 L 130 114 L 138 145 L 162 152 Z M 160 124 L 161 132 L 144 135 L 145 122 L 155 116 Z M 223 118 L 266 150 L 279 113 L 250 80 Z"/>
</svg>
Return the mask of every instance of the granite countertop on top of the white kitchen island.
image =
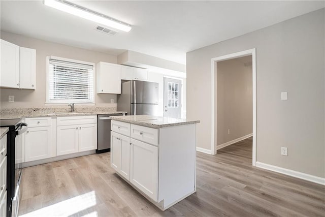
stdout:
<svg viewBox="0 0 325 217">
<path fill-rule="evenodd" d="M 165 128 L 180 125 L 190 125 L 192 123 L 200 123 L 200 120 L 188 120 L 172 117 L 159 117 L 152 115 L 127 115 L 127 116 L 113 116 L 112 120 L 118 120 L 127 123 L 133 123 L 149 128 Z"/>
</svg>

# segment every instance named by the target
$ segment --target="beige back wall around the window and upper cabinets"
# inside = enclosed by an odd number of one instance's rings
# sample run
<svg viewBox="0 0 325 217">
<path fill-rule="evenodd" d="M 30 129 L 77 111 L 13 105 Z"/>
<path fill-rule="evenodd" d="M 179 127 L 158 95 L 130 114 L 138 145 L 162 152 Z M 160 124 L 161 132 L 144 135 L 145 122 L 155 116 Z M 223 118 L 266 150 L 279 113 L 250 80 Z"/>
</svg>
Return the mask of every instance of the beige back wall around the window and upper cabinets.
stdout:
<svg viewBox="0 0 325 217">
<path fill-rule="evenodd" d="M 21 47 L 36 49 L 36 90 L 1 88 L 1 108 L 45 107 L 46 56 L 59 56 L 88 61 L 95 64 L 99 61 L 108 63 L 116 63 L 117 61 L 117 57 L 114 55 L 42 41 L 7 32 L 1 32 L 1 39 Z M 95 79 L 95 85 L 96 80 L 97 79 Z M 15 96 L 14 103 L 8 102 L 9 95 Z M 116 95 L 95 94 L 95 104 L 97 107 L 116 107 L 116 104 L 110 104 L 111 99 L 114 99 L 114 102 L 116 102 Z"/>
</svg>

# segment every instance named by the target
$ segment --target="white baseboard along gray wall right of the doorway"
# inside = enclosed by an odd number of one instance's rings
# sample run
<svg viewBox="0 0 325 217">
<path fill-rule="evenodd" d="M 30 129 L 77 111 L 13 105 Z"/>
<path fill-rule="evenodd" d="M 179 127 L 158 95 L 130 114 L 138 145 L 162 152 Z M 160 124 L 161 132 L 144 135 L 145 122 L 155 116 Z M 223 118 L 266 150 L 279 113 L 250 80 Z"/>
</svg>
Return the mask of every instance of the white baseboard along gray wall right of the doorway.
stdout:
<svg viewBox="0 0 325 217">
<path fill-rule="evenodd" d="M 304 179 L 304 180 L 307 180 L 307 181 L 315 182 L 317 184 L 325 185 L 325 178 L 310 175 L 310 174 L 307 174 L 307 173 L 302 173 L 302 172 L 298 172 L 298 171 L 295 171 L 295 170 L 289 170 L 289 169 L 285 169 L 285 168 L 282 168 L 282 167 L 273 166 L 273 165 L 270 165 L 270 164 L 265 164 L 265 163 L 262 163 L 262 162 L 256 162 L 256 167 L 263 168 L 263 169 L 266 169 L 266 170 L 271 170 L 271 171 L 282 173 L 282 174 L 289 175 L 289 176 L 293 176 L 293 177 L 296 177 L 296 178 L 301 178 L 301 179 Z"/>
</svg>

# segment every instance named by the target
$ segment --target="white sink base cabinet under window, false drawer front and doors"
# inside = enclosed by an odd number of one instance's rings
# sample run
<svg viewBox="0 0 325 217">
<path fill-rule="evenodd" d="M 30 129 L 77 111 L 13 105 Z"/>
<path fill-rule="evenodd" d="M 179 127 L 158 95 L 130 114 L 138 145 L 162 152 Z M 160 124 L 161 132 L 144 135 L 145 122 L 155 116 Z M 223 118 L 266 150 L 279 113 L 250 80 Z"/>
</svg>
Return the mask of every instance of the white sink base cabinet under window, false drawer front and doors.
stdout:
<svg viewBox="0 0 325 217">
<path fill-rule="evenodd" d="M 57 117 L 56 145 L 58 156 L 96 149 L 96 116 Z"/>
</svg>

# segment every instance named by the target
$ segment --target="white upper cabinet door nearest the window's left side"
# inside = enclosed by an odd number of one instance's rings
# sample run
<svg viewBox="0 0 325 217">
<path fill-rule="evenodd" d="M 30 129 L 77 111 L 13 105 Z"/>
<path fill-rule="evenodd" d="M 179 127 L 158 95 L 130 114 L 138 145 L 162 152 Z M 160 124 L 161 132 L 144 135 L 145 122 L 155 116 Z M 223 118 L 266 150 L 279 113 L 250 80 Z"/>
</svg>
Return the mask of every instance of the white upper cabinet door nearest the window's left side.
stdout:
<svg viewBox="0 0 325 217">
<path fill-rule="evenodd" d="M 20 47 L 20 88 L 36 88 L 36 50 Z"/>
</svg>

